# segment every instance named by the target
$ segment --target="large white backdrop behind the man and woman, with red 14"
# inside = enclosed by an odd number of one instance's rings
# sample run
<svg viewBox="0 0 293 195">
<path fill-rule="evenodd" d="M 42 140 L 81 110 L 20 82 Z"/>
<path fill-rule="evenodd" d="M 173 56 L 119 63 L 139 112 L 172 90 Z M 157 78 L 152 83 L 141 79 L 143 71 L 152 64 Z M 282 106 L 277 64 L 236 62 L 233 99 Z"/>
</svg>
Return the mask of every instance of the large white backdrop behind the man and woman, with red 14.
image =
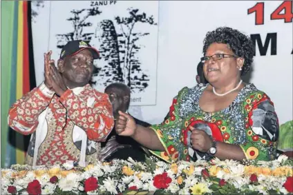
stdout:
<svg viewBox="0 0 293 195">
<path fill-rule="evenodd" d="M 132 89 L 131 114 L 160 123 L 171 99 L 196 85 L 205 34 L 219 26 L 252 37 L 252 82 L 274 101 L 280 123 L 292 120 L 292 1 L 44 1 L 32 23 L 37 84 L 43 54 L 70 39 L 101 50 L 95 88 L 114 81 Z"/>
</svg>

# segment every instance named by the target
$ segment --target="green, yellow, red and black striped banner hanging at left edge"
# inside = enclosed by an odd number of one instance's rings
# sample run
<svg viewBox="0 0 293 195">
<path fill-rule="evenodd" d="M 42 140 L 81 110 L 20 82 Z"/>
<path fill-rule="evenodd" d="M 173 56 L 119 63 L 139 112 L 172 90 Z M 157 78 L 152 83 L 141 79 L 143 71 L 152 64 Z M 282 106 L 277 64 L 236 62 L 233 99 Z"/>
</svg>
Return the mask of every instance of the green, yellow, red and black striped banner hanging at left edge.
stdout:
<svg viewBox="0 0 293 195">
<path fill-rule="evenodd" d="M 30 57 L 29 3 L 1 1 L 1 167 L 24 163 L 25 142 L 29 138 L 8 127 L 10 106 L 30 91 L 30 80 L 35 79 L 31 77 L 35 68 Z"/>
</svg>

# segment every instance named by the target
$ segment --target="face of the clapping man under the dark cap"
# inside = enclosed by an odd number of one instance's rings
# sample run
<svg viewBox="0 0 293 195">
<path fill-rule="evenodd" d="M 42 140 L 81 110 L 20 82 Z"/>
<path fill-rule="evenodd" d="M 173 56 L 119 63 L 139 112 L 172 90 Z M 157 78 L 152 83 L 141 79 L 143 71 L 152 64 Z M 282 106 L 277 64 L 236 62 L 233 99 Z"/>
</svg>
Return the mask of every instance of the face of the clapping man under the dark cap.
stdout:
<svg viewBox="0 0 293 195">
<path fill-rule="evenodd" d="M 66 57 L 61 72 L 67 83 L 73 83 L 77 87 L 86 85 L 93 74 L 93 54 L 85 49 L 72 57 Z"/>
</svg>

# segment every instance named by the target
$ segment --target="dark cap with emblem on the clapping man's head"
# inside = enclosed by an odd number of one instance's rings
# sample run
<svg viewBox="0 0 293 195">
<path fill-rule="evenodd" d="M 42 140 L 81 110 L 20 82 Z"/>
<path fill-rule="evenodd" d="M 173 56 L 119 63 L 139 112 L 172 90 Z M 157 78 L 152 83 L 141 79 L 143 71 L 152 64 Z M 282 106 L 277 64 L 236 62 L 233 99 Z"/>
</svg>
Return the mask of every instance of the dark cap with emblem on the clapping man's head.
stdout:
<svg viewBox="0 0 293 195">
<path fill-rule="evenodd" d="M 100 53 L 95 48 L 93 48 L 90 44 L 86 43 L 86 41 L 75 40 L 68 41 L 66 45 L 61 50 L 60 59 L 64 59 L 65 57 L 71 57 L 78 52 L 88 49 L 93 54 L 93 59 L 99 59 Z"/>
</svg>

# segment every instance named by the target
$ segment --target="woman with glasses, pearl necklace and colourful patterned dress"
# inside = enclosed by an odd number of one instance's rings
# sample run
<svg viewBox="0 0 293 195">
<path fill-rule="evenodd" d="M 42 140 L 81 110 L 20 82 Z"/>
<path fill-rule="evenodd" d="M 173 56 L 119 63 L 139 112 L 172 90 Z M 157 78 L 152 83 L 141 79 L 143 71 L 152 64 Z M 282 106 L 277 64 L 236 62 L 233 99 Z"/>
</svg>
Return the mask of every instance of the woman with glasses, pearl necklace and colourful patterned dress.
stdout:
<svg viewBox="0 0 293 195">
<path fill-rule="evenodd" d="M 160 125 L 141 127 L 120 112 L 117 134 L 133 137 L 168 162 L 214 156 L 274 159 L 278 139 L 274 104 L 254 84 L 240 79 L 252 65 L 252 41 L 238 30 L 217 28 L 207 33 L 203 54 L 208 84 L 180 90 L 169 119 Z"/>
</svg>

